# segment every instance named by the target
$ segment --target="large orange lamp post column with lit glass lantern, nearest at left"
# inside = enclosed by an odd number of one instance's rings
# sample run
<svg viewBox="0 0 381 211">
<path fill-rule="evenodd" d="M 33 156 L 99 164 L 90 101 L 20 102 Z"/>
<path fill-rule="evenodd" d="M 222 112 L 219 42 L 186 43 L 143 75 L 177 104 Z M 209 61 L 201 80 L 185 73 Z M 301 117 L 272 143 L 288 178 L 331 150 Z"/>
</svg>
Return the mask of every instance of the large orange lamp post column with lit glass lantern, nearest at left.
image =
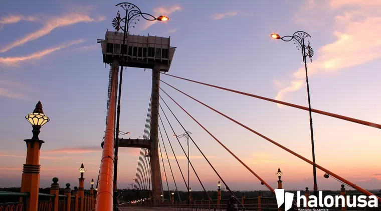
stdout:
<svg viewBox="0 0 381 211">
<path fill-rule="evenodd" d="M 23 167 L 21 178 L 21 192 L 29 192 L 27 200 L 27 210 L 37 211 L 38 196 L 40 188 L 40 149 L 45 142 L 39 139 L 40 128 L 49 121 L 49 117 L 44 114 L 41 101 L 38 101 L 36 108 L 25 118 L 32 124 L 33 137 L 25 139 L 27 143 L 27 158 Z"/>
</svg>

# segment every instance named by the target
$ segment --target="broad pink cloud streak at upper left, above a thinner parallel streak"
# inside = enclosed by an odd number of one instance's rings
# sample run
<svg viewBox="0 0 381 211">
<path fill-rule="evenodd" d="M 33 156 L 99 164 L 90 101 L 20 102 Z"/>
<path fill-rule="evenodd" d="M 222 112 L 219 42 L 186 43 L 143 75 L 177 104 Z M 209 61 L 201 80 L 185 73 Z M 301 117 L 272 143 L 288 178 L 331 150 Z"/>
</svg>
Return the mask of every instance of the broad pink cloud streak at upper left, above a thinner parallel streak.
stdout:
<svg viewBox="0 0 381 211">
<path fill-rule="evenodd" d="M 39 37 L 45 36 L 52 32 L 55 28 L 64 27 L 68 25 L 73 25 L 79 22 L 96 22 L 104 20 L 104 16 L 100 16 L 98 18 L 90 17 L 87 14 L 81 13 L 68 13 L 62 16 L 50 17 L 44 24 L 44 26 L 38 29 L 35 32 L 29 33 L 25 35 L 23 38 L 18 39 L 7 46 L 0 48 L 0 52 L 6 52 L 16 46 L 21 46 L 29 41 L 38 39 Z"/>
</svg>

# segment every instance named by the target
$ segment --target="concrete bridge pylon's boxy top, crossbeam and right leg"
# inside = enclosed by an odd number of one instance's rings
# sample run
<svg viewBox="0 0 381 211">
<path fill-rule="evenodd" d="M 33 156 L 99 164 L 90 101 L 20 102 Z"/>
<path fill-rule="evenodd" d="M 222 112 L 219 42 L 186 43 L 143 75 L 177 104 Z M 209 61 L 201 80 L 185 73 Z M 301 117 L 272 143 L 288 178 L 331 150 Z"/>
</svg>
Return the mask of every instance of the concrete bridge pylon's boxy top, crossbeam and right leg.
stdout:
<svg viewBox="0 0 381 211">
<path fill-rule="evenodd" d="M 163 188 L 158 156 L 159 82 L 160 72 L 169 70 L 175 47 L 170 46 L 170 37 L 133 35 L 128 32 L 124 37 L 123 32 L 107 31 L 105 39 L 98 39 L 97 41 L 102 46 L 103 62 L 112 63 L 114 60 L 120 60 L 119 65 L 122 68 L 152 69 L 149 143 L 147 144 L 145 139 L 136 139 L 135 144 L 134 141 L 118 138 L 118 147 L 143 147 L 149 149 L 152 201 L 154 204 L 160 203 Z M 124 144 L 119 145 L 121 142 Z M 117 165 L 117 162 L 115 162 L 115 165 Z"/>
</svg>

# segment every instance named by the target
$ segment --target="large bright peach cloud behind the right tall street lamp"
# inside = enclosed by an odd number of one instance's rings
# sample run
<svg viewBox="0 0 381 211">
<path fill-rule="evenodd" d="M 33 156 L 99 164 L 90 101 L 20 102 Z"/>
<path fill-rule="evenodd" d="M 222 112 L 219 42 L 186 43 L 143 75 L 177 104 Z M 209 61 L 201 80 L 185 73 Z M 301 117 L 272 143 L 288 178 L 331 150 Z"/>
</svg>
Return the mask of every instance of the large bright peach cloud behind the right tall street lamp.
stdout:
<svg viewBox="0 0 381 211">
<path fill-rule="evenodd" d="M 314 3 L 313 0 L 309 2 Z M 353 4 L 356 6 L 343 7 Z M 318 48 L 316 59 L 308 64 L 308 76 L 338 71 L 381 57 L 381 37 L 374 36 L 371 42 L 364 41 L 369 39 L 368 31 L 381 33 L 381 14 L 377 12 L 381 9 L 379 1 L 331 0 L 329 5 L 335 11 L 338 8 L 346 10 L 333 17 L 335 41 Z M 290 85 L 280 89 L 276 98 L 282 100 L 286 93 L 299 90 L 304 80 L 305 70 L 301 67 L 293 72 Z"/>
</svg>

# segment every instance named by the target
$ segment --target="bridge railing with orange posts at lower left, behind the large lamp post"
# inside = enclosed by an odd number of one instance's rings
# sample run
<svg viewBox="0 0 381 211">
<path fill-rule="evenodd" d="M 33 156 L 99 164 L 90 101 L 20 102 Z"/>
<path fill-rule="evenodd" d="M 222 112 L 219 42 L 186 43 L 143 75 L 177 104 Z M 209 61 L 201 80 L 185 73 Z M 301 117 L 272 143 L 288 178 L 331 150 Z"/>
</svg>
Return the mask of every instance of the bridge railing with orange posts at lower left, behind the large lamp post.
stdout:
<svg viewBox="0 0 381 211">
<path fill-rule="evenodd" d="M 91 191 L 82 190 L 83 197 L 79 195 L 79 190 L 70 184 L 66 188 L 60 189 L 57 180 L 52 184 L 50 193 L 38 193 L 37 207 L 30 207 L 28 199 L 29 192 L 7 192 L 0 191 L 0 211 L 93 211 L 95 209 L 95 196 Z M 64 192 L 64 194 L 59 194 Z"/>
</svg>

